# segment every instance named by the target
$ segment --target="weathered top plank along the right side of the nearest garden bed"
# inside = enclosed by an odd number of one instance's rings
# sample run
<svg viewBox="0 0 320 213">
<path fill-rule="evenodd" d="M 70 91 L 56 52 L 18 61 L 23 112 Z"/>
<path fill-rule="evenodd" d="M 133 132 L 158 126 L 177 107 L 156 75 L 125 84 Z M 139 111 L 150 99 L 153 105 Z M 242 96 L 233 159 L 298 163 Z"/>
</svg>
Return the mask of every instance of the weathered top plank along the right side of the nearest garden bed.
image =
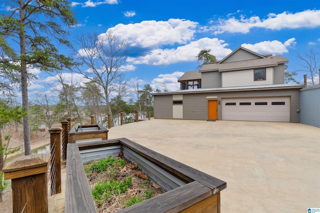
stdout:
<svg viewBox="0 0 320 213">
<path fill-rule="evenodd" d="M 192 182 L 196 180 L 199 183 L 209 187 L 212 190 L 212 195 L 226 188 L 226 183 L 215 177 L 188 167 L 185 164 L 163 156 L 126 138 L 119 138 L 119 141 L 123 146 L 128 147 L 152 163 L 184 179 L 186 182 Z"/>
</svg>

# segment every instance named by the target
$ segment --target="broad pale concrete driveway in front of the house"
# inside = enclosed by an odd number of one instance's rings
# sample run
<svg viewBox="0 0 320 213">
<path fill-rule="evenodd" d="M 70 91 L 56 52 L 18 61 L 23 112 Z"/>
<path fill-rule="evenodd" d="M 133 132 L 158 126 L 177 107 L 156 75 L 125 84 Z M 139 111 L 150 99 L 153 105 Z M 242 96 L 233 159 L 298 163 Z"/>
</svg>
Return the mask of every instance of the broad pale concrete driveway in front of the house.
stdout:
<svg viewBox="0 0 320 213">
<path fill-rule="evenodd" d="M 320 128 L 299 123 L 151 119 L 112 127 L 221 179 L 222 213 L 307 213 L 320 208 Z"/>
</svg>

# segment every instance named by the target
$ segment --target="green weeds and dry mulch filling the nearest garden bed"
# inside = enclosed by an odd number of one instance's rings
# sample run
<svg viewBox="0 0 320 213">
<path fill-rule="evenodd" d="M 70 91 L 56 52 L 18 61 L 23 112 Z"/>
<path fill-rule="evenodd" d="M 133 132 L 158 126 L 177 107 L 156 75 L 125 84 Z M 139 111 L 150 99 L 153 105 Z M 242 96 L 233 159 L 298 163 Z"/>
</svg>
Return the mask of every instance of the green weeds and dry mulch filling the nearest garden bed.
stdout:
<svg viewBox="0 0 320 213">
<path fill-rule="evenodd" d="M 91 193 L 97 209 L 101 211 L 106 210 L 105 208 L 111 211 L 110 206 L 113 208 L 112 211 L 115 211 L 119 207 L 129 207 L 161 194 L 152 190 L 149 180 L 136 178 L 136 171 L 132 171 L 135 169 L 123 158 L 109 156 L 87 163 L 84 170 L 87 177 L 90 177 L 89 182 L 96 183 L 91 187 Z M 129 188 L 131 190 L 128 190 Z M 114 200 L 121 202 L 114 204 Z"/>
</svg>

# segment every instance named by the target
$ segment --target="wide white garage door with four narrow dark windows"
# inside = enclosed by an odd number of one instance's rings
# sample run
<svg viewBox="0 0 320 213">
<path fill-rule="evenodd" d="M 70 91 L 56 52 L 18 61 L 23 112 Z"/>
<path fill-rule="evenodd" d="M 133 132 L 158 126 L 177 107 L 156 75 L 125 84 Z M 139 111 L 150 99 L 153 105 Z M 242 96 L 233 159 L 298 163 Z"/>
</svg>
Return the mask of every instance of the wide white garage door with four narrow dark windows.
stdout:
<svg viewBox="0 0 320 213">
<path fill-rule="evenodd" d="M 222 98 L 222 120 L 290 122 L 290 97 Z"/>
</svg>

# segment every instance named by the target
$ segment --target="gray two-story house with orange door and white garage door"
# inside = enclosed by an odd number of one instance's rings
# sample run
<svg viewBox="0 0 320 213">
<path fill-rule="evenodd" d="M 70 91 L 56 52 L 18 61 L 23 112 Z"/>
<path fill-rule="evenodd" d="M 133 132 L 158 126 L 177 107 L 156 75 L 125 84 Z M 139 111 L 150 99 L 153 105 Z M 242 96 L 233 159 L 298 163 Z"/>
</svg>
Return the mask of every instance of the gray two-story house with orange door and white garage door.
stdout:
<svg viewBox="0 0 320 213">
<path fill-rule="evenodd" d="M 180 90 L 153 93 L 154 118 L 299 122 L 299 90 L 284 83 L 288 60 L 238 47 L 185 72 Z"/>
</svg>

